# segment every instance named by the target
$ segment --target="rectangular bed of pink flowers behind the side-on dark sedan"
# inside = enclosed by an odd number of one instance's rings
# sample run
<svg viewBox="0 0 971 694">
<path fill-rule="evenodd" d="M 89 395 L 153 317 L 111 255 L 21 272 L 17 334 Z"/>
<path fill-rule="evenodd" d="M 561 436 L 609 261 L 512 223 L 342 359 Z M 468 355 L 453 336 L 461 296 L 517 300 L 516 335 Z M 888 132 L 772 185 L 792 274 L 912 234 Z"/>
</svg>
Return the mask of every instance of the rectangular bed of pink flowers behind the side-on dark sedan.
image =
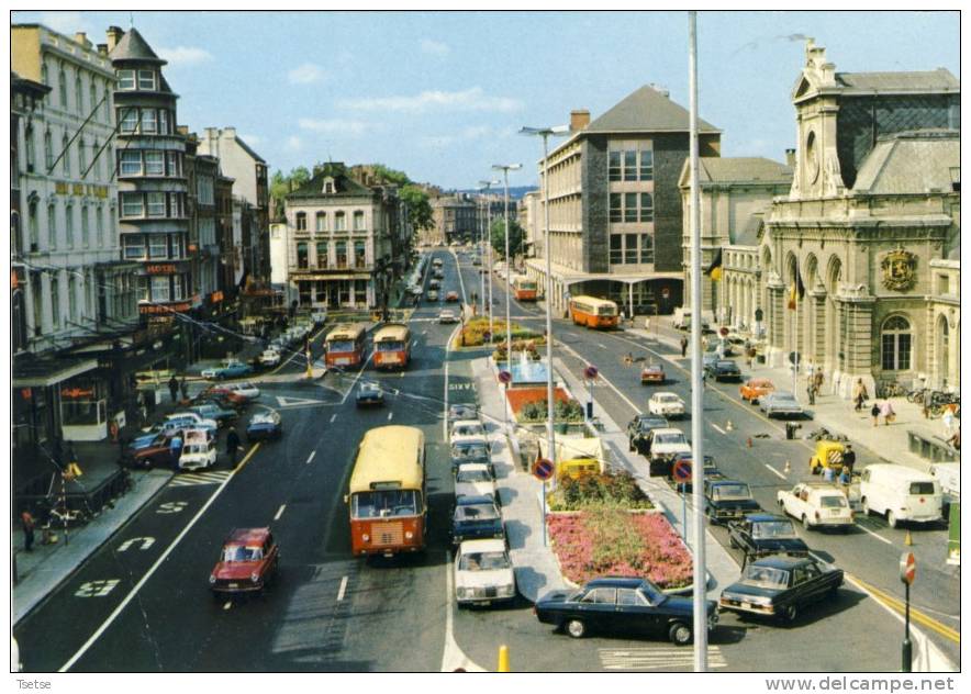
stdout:
<svg viewBox="0 0 971 694">
<path fill-rule="evenodd" d="M 563 575 L 582 584 L 603 575 L 648 578 L 661 589 L 691 584 L 691 553 L 661 514 L 599 507 L 550 515 Z"/>
</svg>

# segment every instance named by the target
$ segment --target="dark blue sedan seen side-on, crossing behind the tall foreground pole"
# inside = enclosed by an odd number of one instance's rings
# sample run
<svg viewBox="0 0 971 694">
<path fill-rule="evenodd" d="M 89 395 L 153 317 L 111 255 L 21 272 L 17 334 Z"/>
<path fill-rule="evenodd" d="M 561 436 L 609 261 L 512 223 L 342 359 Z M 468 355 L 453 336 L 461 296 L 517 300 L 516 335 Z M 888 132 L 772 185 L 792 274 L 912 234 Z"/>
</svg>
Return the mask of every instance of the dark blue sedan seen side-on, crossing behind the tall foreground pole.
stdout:
<svg viewBox="0 0 971 694">
<path fill-rule="evenodd" d="M 708 630 L 718 620 L 715 601 L 706 601 Z M 590 631 L 643 633 L 691 643 L 694 603 L 690 597 L 666 595 L 647 579 L 594 579 L 579 590 L 553 591 L 540 597 L 534 614 L 573 638 Z"/>
</svg>

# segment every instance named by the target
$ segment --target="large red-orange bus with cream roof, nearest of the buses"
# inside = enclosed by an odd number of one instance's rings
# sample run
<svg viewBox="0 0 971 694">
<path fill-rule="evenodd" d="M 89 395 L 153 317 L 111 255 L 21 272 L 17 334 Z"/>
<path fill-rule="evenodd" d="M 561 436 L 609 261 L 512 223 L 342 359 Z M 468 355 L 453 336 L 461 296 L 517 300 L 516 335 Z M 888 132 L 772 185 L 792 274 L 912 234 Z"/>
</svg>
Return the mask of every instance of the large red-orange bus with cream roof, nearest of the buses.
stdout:
<svg viewBox="0 0 971 694">
<path fill-rule="evenodd" d="M 355 556 L 425 548 L 425 435 L 413 426 L 379 426 L 358 448 L 345 501 Z"/>
</svg>

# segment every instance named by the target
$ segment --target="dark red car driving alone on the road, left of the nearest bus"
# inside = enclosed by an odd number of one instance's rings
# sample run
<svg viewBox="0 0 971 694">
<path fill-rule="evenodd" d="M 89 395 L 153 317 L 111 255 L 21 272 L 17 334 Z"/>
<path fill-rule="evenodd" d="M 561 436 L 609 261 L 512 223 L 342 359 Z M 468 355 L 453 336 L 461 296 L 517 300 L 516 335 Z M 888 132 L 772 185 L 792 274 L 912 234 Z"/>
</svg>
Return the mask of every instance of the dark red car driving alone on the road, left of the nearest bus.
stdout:
<svg viewBox="0 0 971 694">
<path fill-rule="evenodd" d="M 280 548 L 269 528 L 236 528 L 209 577 L 213 597 L 263 593 L 277 575 Z"/>
</svg>

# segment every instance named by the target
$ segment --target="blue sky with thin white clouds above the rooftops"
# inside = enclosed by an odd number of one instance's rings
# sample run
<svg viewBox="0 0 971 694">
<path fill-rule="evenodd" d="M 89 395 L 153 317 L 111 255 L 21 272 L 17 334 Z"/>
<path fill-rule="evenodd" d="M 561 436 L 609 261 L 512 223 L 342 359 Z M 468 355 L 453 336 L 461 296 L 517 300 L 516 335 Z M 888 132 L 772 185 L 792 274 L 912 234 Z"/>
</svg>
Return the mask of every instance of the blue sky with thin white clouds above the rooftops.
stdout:
<svg viewBox="0 0 971 694">
<path fill-rule="evenodd" d="M 646 83 L 688 107 L 685 12 L 139 12 L 134 25 L 180 94 L 179 123 L 234 125 L 289 170 L 380 161 L 415 180 L 472 188 L 498 163 L 542 156 L 522 125 L 596 117 Z M 127 11 L 15 12 L 65 33 L 130 25 Z M 927 70 L 960 78 L 950 12 L 701 12 L 699 103 L 723 156 L 782 160 L 794 146 L 790 90 L 802 36 L 838 71 Z"/>
</svg>

